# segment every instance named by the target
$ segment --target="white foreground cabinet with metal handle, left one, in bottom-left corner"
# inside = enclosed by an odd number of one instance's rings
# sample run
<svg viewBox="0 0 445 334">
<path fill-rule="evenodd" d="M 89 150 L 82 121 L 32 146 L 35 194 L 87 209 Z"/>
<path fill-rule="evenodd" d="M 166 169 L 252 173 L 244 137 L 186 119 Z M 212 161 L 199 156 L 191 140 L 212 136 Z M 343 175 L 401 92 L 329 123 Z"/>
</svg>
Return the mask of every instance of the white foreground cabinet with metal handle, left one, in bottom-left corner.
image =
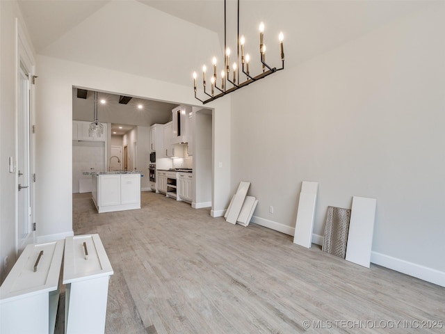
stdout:
<svg viewBox="0 0 445 334">
<path fill-rule="evenodd" d="M 0 333 L 54 333 L 64 244 L 26 246 L 0 287 Z"/>
</svg>

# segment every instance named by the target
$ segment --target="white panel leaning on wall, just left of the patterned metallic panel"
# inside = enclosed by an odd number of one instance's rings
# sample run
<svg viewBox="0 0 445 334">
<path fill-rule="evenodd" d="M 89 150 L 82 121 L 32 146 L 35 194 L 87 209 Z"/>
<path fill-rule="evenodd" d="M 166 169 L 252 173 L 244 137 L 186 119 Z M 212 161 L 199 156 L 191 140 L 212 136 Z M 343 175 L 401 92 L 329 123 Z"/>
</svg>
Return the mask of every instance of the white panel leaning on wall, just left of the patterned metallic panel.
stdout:
<svg viewBox="0 0 445 334">
<path fill-rule="evenodd" d="M 293 243 L 311 248 L 318 182 L 302 182 Z"/>
</svg>

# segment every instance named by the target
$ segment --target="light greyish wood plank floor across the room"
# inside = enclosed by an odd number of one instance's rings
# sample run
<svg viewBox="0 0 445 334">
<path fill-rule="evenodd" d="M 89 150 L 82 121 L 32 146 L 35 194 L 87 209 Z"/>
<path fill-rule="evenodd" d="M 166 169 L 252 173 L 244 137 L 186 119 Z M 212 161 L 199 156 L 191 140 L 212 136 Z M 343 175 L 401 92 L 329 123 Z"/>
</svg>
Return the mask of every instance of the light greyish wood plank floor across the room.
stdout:
<svg viewBox="0 0 445 334">
<path fill-rule="evenodd" d="M 114 269 L 106 333 L 445 333 L 443 287 L 161 194 L 107 214 L 90 196 L 73 195 L 73 228 L 99 233 Z"/>
</svg>

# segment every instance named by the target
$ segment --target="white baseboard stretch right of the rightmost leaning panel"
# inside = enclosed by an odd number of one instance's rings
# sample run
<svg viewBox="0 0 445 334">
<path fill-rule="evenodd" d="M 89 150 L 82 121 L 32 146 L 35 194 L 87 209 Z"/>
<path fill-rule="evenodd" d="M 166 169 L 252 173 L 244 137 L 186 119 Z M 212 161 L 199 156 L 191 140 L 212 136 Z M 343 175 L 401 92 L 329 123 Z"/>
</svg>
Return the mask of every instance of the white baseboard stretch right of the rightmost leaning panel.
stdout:
<svg viewBox="0 0 445 334">
<path fill-rule="evenodd" d="M 445 287 L 445 272 L 397 259 L 382 253 L 371 252 L 371 262 L 379 266 L 405 273 L 421 280 Z"/>
</svg>

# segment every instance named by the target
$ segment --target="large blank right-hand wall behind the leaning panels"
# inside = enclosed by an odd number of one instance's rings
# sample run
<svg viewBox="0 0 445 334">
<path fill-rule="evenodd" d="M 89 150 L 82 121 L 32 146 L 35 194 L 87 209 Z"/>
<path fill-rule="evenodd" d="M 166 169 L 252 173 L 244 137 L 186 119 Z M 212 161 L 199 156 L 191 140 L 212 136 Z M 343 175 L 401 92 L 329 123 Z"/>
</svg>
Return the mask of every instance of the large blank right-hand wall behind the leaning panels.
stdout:
<svg viewBox="0 0 445 334">
<path fill-rule="evenodd" d="M 445 4 L 232 95 L 232 192 L 293 234 L 302 181 L 328 205 L 377 198 L 373 262 L 445 285 Z M 270 205 L 275 213 L 269 214 Z"/>
</svg>

